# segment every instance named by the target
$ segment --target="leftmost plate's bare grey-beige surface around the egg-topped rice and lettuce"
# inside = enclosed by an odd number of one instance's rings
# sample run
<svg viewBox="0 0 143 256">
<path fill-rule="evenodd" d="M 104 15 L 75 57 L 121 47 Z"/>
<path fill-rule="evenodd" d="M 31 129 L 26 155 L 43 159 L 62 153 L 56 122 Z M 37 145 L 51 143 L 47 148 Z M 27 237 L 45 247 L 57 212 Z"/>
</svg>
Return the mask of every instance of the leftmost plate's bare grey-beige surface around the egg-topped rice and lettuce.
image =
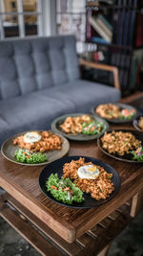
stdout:
<svg viewBox="0 0 143 256">
<path fill-rule="evenodd" d="M 48 156 L 48 159 L 49 161 L 47 162 L 43 162 L 43 163 L 38 163 L 38 164 L 27 164 L 27 163 L 20 163 L 20 162 L 17 162 L 15 157 L 14 157 L 14 152 L 18 149 L 20 149 L 19 146 L 14 146 L 13 145 L 13 140 L 20 136 L 20 135 L 24 135 L 26 132 L 28 131 L 25 131 L 25 132 L 21 132 L 21 133 L 18 133 L 12 137 L 10 137 L 10 139 L 6 140 L 3 145 L 2 145 L 2 148 L 1 148 L 1 151 L 2 151 L 2 154 L 4 155 L 4 157 L 6 157 L 8 160 L 10 160 L 11 162 L 13 163 L 16 163 L 16 164 L 21 164 L 21 165 L 28 165 L 28 166 L 38 166 L 38 165 L 45 165 L 45 164 L 49 164 L 51 163 L 52 161 L 56 160 L 56 159 L 59 159 L 61 158 L 62 156 L 64 156 L 70 149 L 70 144 L 69 144 L 69 141 L 64 138 L 63 136 L 59 135 L 63 141 L 63 144 L 62 144 L 62 149 L 60 151 L 47 151 L 45 152 L 45 154 Z"/>
</svg>

